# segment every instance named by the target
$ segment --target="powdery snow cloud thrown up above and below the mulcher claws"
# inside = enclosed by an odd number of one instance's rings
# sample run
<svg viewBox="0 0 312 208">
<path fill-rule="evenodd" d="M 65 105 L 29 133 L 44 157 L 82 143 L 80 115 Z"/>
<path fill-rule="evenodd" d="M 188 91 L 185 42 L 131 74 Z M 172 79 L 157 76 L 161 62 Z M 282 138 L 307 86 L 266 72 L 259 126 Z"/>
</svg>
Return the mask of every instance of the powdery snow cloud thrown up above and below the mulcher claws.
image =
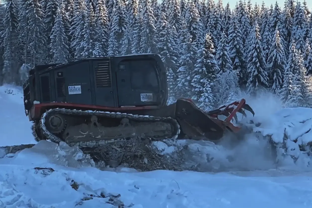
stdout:
<svg viewBox="0 0 312 208">
<path fill-rule="evenodd" d="M 259 93 L 257 97 L 243 96 L 246 103 L 255 112 L 247 118 L 240 119 L 241 123 L 252 120 L 255 123 L 266 122 L 270 116 L 282 108 L 280 100 L 271 93 Z M 188 145 L 190 160 L 200 164 L 199 171 L 252 171 L 276 168 L 275 150 L 267 138 L 260 133 L 244 131 L 240 138 L 231 133 L 227 134 L 218 144 L 202 141 Z M 194 161 L 194 160 L 197 161 Z"/>
</svg>

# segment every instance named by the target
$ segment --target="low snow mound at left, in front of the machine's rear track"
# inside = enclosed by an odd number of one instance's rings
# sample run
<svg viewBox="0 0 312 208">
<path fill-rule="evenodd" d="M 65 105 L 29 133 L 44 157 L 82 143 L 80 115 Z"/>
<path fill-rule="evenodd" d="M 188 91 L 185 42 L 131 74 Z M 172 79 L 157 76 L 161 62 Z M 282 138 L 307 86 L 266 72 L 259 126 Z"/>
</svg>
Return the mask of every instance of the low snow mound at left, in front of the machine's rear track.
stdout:
<svg viewBox="0 0 312 208">
<path fill-rule="evenodd" d="M 95 166 L 90 155 L 84 154 L 77 146 L 70 147 L 64 142 L 56 144 L 45 140 L 38 142 L 32 148 L 23 149 L 15 154 L 6 154 L 3 159 L 6 158 L 13 160 L 16 164 L 31 163 L 38 166 L 44 166 L 47 163 L 75 168 Z"/>
</svg>

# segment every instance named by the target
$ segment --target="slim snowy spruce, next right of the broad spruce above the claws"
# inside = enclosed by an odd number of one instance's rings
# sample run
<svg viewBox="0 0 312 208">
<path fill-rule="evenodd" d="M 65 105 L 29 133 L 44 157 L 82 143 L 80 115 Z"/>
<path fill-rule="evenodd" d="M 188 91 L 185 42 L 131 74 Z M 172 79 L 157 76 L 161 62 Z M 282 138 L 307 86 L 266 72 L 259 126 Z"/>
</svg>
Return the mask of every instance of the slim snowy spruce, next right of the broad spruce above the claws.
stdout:
<svg viewBox="0 0 312 208">
<path fill-rule="evenodd" d="M 285 65 L 285 53 L 280 42 L 280 31 L 275 29 L 267 62 L 267 68 L 270 69 L 269 84 L 275 94 L 278 94 L 283 86 Z"/>
</svg>

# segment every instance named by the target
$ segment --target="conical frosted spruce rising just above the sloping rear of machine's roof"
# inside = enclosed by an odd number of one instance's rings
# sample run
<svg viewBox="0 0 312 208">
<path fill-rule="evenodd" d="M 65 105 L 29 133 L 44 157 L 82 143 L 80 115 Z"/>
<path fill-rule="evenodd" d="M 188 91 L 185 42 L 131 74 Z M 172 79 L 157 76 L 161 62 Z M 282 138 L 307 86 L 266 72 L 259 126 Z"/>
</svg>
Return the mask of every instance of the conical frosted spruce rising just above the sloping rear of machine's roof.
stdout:
<svg viewBox="0 0 312 208">
<path fill-rule="evenodd" d="M 60 2 L 56 11 L 55 23 L 51 31 L 51 55 L 52 63 L 66 63 L 69 58 L 68 37 L 66 36 L 66 28 L 63 22 L 62 14 L 64 13 L 64 4 Z"/>
</svg>

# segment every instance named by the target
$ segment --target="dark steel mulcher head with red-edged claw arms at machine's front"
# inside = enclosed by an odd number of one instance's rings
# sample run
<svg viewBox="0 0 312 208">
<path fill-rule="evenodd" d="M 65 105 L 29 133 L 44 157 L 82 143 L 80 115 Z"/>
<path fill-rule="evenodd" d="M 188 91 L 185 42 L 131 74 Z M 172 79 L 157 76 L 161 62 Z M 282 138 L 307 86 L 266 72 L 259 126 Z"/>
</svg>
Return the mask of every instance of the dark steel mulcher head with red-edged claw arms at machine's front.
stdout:
<svg viewBox="0 0 312 208">
<path fill-rule="evenodd" d="M 199 109 L 191 99 L 178 99 L 176 103 L 176 119 L 178 120 L 182 132 L 191 139 L 207 139 L 216 141 L 224 136 L 226 130 L 237 133 L 241 127 L 234 126 L 232 119 L 237 120 L 236 113 L 246 116 L 243 109 L 254 111 L 246 104 L 245 99 L 241 99 L 230 104 L 204 112 Z M 226 119 L 218 119 L 219 115 L 226 116 Z"/>
</svg>

